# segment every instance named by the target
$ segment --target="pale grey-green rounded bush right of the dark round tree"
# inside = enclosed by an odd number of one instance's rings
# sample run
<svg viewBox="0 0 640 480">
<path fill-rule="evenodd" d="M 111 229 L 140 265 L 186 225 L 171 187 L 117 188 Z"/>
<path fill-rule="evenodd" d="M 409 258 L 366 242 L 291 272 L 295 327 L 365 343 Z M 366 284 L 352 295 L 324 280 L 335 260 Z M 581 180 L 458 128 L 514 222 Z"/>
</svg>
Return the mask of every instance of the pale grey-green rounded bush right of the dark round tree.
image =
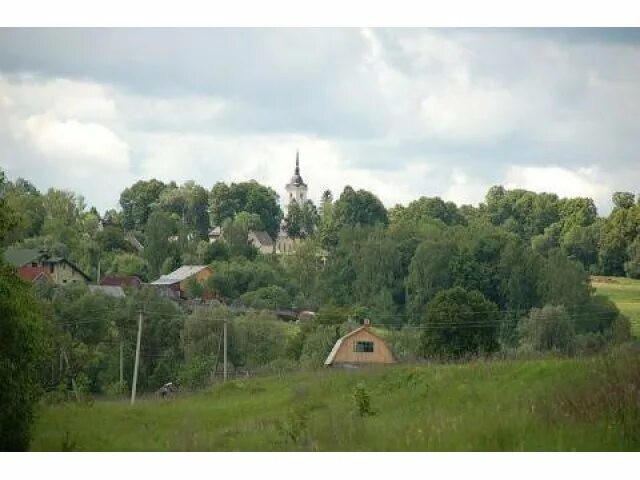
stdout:
<svg viewBox="0 0 640 480">
<path fill-rule="evenodd" d="M 573 320 L 562 305 L 532 308 L 518 325 L 518 336 L 521 346 L 539 352 L 556 350 L 569 354 L 576 341 Z"/>
</svg>

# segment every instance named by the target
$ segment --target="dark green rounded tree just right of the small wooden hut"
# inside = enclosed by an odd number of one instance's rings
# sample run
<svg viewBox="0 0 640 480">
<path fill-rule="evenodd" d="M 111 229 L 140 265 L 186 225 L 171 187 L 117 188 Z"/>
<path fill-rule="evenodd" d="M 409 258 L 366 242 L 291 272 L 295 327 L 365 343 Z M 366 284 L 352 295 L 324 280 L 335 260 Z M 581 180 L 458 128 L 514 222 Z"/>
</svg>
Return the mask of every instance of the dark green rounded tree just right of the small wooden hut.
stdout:
<svg viewBox="0 0 640 480">
<path fill-rule="evenodd" d="M 439 292 L 427 305 L 421 334 L 426 356 L 459 358 L 498 349 L 498 307 L 478 291 Z"/>
</svg>

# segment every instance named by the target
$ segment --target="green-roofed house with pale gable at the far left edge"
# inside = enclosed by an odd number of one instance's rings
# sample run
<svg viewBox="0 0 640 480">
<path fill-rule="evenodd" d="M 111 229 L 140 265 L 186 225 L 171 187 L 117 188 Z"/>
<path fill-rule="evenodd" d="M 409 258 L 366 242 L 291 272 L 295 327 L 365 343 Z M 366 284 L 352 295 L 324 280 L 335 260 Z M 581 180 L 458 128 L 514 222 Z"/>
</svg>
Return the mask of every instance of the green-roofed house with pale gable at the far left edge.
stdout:
<svg viewBox="0 0 640 480">
<path fill-rule="evenodd" d="M 44 250 L 8 248 L 4 256 L 7 262 L 16 268 L 18 275 L 25 275 L 26 278 L 35 274 L 35 271 L 25 268 L 31 267 L 42 269 L 42 272 L 45 272 L 58 285 L 91 281 L 82 270 L 66 258 L 53 256 Z"/>
</svg>

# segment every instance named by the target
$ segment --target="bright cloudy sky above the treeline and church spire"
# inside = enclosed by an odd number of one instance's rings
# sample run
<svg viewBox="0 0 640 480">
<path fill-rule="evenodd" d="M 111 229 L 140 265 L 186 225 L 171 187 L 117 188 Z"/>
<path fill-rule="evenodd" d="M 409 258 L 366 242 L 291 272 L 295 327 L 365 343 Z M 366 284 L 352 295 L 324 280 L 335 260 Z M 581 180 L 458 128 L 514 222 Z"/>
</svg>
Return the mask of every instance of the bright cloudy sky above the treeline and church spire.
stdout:
<svg viewBox="0 0 640 480">
<path fill-rule="evenodd" d="M 317 200 L 640 185 L 640 29 L 0 29 L 0 165 L 115 207 L 138 179 Z"/>
</svg>

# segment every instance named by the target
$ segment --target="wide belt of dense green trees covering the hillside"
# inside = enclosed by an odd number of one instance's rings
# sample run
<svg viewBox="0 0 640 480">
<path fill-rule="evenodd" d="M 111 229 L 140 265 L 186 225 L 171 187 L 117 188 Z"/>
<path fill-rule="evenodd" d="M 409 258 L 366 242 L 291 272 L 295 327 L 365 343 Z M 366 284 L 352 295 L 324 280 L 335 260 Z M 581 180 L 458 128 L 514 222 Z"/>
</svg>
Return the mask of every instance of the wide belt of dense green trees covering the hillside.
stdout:
<svg viewBox="0 0 640 480">
<path fill-rule="evenodd" d="M 130 386 L 141 311 L 139 387 L 196 387 L 219 376 L 225 320 L 236 370 L 319 366 L 365 318 L 399 359 L 597 350 L 629 328 L 594 296 L 590 274 L 640 276 L 640 204 L 625 192 L 614 195 L 607 218 L 588 198 L 499 186 L 478 207 L 422 197 L 389 210 L 373 193 L 345 187 L 335 201 L 326 191 L 318 208 L 294 204 L 284 222 L 277 194 L 255 181 L 210 190 L 139 181 L 122 192 L 120 210 L 102 215 L 80 196 L 40 193 L 22 179 L 5 182 L 3 201 L 12 210 L 0 210 L 2 221 L 15 227 L 4 246 L 46 248 L 92 278 L 98 268 L 143 281 L 184 264 L 214 272 L 189 283 L 182 305 L 149 288 L 121 300 L 84 286 L 36 287 L 55 326 L 56 358 L 68 358 L 47 386 L 68 391 L 74 383 L 79 395 Z M 210 243 L 215 226 L 224 236 Z M 249 244 L 250 231 L 275 238 L 280 227 L 297 241 L 292 254 Z M 222 305 L 202 306 L 200 297 Z M 291 309 L 316 319 L 301 326 L 274 316 Z"/>
</svg>

